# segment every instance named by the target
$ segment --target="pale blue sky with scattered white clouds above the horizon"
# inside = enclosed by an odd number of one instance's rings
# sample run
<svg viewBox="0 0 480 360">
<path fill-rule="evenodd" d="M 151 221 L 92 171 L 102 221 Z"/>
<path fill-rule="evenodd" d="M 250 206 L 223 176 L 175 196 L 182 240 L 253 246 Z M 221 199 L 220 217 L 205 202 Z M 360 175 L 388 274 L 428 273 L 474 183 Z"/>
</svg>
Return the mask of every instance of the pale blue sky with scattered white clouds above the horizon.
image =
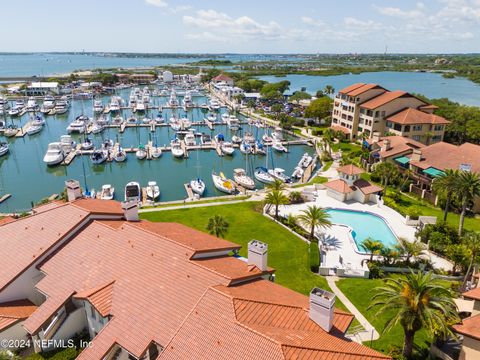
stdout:
<svg viewBox="0 0 480 360">
<path fill-rule="evenodd" d="M 0 51 L 480 51 L 480 0 L 9 0 L 1 12 Z"/>
</svg>

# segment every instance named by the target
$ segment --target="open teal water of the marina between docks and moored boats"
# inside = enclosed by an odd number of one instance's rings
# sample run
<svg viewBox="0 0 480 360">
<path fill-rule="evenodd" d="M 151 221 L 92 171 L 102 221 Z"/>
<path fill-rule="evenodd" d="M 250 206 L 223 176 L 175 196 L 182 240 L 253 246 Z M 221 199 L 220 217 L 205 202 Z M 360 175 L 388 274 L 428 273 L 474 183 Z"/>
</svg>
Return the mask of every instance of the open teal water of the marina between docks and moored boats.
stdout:
<svg viewBox="0 0 480 360">
<path fill-rule="evenodd" d="M 129 90 L 121 95 L 128 99 Z M 166 102 L 165 97 L 153 97 L 155 104 Z M 179 97 L 181 100 L 181 96 Z M 108 98 L 104 98 L 104 103 Z M 206 102 L 205 97 L 194 97 L 197 104 Z M 157 181 L 161 189 L 160 201 L 171 201 L 184 199 L 186 192 L 183 184 L 191 179 L 200 176 L 204 179 L 207 188 L 204 196 L 224 195 L 218 192 L 213 186 L 211 172 L 223 171 L 226 176 L 232 177 L 233 169 L 237 167 L 252 169 L 255 166 L 265 165 L 266 156 L 249 156 L 249 165 L 246 166 L 245 155 L 237 149 L 233 157 L 219 157 L 213 150 L 190 151 L 188 159 L 175 159 L 170 152 L 164 152 L 159 159 L 140 161 L 135 154 L 128 154 L 128 159 L 124 163 L 105 163 L 94 166 L 91 164 L 88 156 L 77 156 L 69 166 L 47 167 L 43 163 L 43 156 L 48 143 L 58 141 L 61 135 L 66 134 L 66 127 L 75 115 L 81 112 L 92 114 L 92 101 L 76 100 L 70 109 L 70 112 L 63 116 L 47 116 L 47 125 L 39 134 L 23 138 L 8 139 L 10 143 L 10 154 L 0 158 L 0 194 L 10 193 L 13 196 L 0 205 L 0 212 L 12 212 L 25 210 L 30 207 L 31 201 L 38 201 L 41 198 L 59 193 L 64 187 L 67 179 L 78 179 L 82 186 L 85 185 L 83 167 L 85 168 L 86 182 L 88 187 L 100 189 L 102 184 L 112 184 L 115 187 L 115 198 L 123 199 L 123 190 L 125 184 L 130 181 L 138 181 L 142 186 L 146 186 L 149 180 Z M 225 111 L 225 110 L 222 110 Z M 156 110 L 152 111 L 151 116 L 155 116 Z M 129 116 L 128 111 L 124 111 L 124 117 Z M 170 110 L 164 110 L 164 117 L 170 117 Z M 184 115 L 183 110 L 177 112 L 178 115 Z M 188 112 L 187 116 L 193 121 L 203 119 L 204 114 L 200 109 L 194 109 Z M 28 121 L 28 114 L 22 119 L 13 120 L 14 123 L 21 125 Z M 200 132 L 210 132 L 206 126 L 192 126 Z M 250 128 L 244 125 L 244 130 L 251 131 L 257 137 L 263 135 L 264 129 Z M 223 133 L 226 139 L 233 135 L 226 126 L 216 126 L 215 131 L 210 132 L 212 136 Z M 127 128 L 123 134 L 117 129 L 107 129 L 102 134 L 90 135 L 97 146 L 105 138 L 118 140 L 123 147 L 137 147 L 139 144 L 146 144 L 150 139 L 156 141 L 158 145 L 169 144 L 175 134 L 170 127 L 157 127 L 155 133 L 151 133 L 149 128 Z M 0 141 L 5 138 L 0 136 Z M 76 136 L 76 140 L 81 140 Z M 279 154 L 273 152 L 269 157 L 269 167 L 277 166 L 284 168 L 288 174 L 291 174 L 303 153 L 312 152 L 313 149 L 308 146 L 295 145 L 290 146 L 290 152 Z M 198 154 L 198 161 L 197 161 Z M 273 164 L 272 164 L 273 163 Z M 257 184 L 262 188 L 261 184 Z"/>
</svg>

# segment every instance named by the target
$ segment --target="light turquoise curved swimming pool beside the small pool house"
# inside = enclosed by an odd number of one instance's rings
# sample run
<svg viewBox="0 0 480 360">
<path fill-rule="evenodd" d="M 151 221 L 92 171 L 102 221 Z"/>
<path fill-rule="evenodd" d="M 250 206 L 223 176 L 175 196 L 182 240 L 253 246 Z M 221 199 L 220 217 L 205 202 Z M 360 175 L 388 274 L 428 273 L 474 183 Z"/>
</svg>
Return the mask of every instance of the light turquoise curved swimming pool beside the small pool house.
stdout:
<svg viewBox="0 0 480 360">
<path fill-rule="evenodd" d="M 359 252 L 365 253 L 360 244 L 367 238 L 381 241 L 385 247 L 390 248 L 398 244 L 395 234 L 380 216 L 343 209 L 326 209 L 326 211 L 333 224 L 347 225 L 352 229 L 352 237 Z"/>
</svg>

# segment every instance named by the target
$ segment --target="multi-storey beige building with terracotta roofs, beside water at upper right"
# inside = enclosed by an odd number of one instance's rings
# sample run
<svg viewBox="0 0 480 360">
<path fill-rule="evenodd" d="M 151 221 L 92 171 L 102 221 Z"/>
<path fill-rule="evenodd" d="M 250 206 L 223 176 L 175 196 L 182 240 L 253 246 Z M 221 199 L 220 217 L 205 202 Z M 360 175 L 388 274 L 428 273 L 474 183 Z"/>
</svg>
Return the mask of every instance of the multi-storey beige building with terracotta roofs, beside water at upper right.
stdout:
<svg viewBox="0 0 480 360">
<path fill-rule="evenodd" d="M 358 83 L 340 90 L 334 99 L 332 128 L 351 140 L 374 132 L 411 138 L 423 144 L 443 140 L 449 121 L 433 114 L 436 106 L 405 91 Z"/>
</svg>

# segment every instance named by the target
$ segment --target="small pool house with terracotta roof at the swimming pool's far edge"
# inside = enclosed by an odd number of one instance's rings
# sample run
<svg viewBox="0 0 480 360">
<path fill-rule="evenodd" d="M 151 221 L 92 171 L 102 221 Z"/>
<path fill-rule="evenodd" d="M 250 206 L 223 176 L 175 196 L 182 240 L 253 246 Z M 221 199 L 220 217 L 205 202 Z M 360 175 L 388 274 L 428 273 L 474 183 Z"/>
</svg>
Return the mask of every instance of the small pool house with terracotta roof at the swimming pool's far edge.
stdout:
<svg viewBox="0 0 480 360">
<path fill-rule="evenodd" d="M 358 201 L 362 204 L 377 202 L 382 188 L 360 178 L 365 172 L 355 165 L 346 165 L 337 169 L 339 178 L 324 184 L 327 195 L 339 201 Z"/>
</svg>

